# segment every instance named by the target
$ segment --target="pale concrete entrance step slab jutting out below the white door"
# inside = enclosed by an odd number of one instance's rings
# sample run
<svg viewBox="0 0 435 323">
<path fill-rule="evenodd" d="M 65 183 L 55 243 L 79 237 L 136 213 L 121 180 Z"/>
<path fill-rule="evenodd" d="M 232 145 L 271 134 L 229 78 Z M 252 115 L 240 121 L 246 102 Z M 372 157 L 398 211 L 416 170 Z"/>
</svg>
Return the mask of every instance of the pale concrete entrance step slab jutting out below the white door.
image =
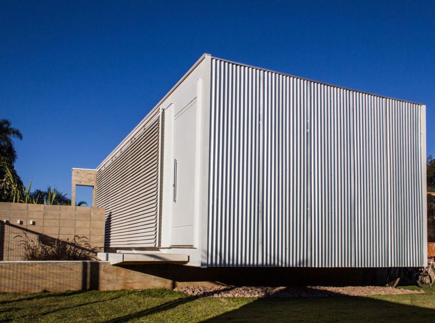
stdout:
<svg viewBox="0 0 435 323">
<path fill-rule="evenodd" d="M 187 263 L 188 255 L 168 253 L 114 253 L 99 252 L 98 258 L 110 261 L 111 265 L 117 264 L 162 264 L 162 263 Z"/>
</svg>

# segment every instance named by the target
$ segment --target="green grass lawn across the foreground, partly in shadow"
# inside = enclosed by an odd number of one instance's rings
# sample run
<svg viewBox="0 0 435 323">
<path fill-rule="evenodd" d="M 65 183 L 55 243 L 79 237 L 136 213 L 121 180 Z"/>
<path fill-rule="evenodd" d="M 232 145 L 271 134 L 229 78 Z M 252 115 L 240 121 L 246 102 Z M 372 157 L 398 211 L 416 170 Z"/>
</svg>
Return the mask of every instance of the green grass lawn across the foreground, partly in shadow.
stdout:
<svg viewBox="0 0 435 323">
<path fill-rule="evenodd" d="M 435 320 L 435 294 L 194 298 L 170 290 L 0 293 L 0 321 L 197 322 Z"/>
</svg>

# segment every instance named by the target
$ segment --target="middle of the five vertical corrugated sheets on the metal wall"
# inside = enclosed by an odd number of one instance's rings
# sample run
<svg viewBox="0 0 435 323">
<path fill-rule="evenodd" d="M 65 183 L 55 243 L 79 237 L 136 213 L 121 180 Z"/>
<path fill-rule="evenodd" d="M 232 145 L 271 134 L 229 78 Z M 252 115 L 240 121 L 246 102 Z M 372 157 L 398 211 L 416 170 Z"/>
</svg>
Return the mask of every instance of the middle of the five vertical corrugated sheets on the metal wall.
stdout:
<svg viewBox="0 0 435 323">
<path fill-rule="evenodd" d="M 354 133 L 351 93 L 311 83 L 312 266 L 352 267 Z"/>
</svg>

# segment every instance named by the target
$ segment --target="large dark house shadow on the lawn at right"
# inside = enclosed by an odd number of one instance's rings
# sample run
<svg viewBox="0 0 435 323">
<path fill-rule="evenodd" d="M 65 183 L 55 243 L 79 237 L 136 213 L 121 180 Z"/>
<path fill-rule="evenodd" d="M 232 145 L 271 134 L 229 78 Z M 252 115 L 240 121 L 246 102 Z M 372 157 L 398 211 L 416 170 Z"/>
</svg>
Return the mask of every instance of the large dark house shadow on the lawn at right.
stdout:
<svg viewBox="0 0 435 323">
<path fill-rule="evenodd" d="M 310 289 L 307 288 L 307 290 Z M 424 307 L 424 301 L 419 298 L 420 296 L 430 297 L 429 295 L 389 296 L 397 296 L 398 301 L 401 296 L 414 298 L 411 303 L 419 304 L 420 301 L 422 306 L 379 299 L 378 296 L 347 296 L 328 292 L 328 294 L 314 297 L 258 298 L 236 310 L 214 316 L 206 321 L 433 321 L 435 309 Z M 427 304 L 433 304 L 433 301 L 433 297 L 427 298 Z"/>
</svg>

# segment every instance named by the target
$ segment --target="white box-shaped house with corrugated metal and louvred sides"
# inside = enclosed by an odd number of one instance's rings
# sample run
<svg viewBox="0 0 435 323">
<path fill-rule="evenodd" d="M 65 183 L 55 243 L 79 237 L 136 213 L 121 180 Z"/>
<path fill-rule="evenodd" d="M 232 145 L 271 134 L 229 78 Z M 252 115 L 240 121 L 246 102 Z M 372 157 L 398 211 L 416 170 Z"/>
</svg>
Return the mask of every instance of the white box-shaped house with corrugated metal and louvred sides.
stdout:
<svg viewBox="0 0 435 323">
<path fill-rule="evenodd" d="M 425 111 L 204 54 L 90 171 L 100 257 L 423 266 Z"/>
</svg>

